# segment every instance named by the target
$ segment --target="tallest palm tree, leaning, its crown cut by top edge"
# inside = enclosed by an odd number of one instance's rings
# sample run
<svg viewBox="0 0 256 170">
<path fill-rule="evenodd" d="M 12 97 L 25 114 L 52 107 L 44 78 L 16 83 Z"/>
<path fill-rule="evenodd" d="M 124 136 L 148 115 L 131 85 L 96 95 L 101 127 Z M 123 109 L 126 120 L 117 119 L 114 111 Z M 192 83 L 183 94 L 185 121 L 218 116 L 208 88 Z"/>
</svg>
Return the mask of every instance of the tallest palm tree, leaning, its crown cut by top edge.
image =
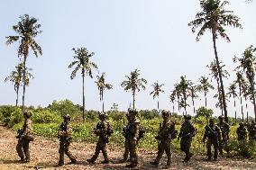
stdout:
<svg viewBox="0 0 256 170">
<path fill-rule="evenodd" d="M 218 68 L 218 76 L 220 79 L 220 87 L 222 91 L 222 100 L 224 104 L 224 118 L 228 121 L 226 103 L 225 103 L 225 93 L 224 93 L 224 83 L 223 77 L 221 75 L 220 62 L 217 55 L 216 49 L 216 39 L 220 36 L 224 40 L 230 41 L 229 37 L 225 33 L 224 27 L 231 26 L 234 28 L 241 28 L 242 25 L 239 23 L 239 17 L 233 14 L 233 11 L 228 11 L 224 9 L 225 4 L 229 4 L 227 1 L 221 2 L 221 0 L 200 0 L 200 6 L 202 12 L 197 13 L 196 20 L 189 22 L 188 26 L 192 27 L 192 31 L 195 32 L 197 28 L 200 31 L 197 32 L 197 40 L 200 39 L 204 33 L 209 30 L 212 33 L 212 40 L 214 42 L 215 49 L 215 59 Z"/>
</svg>

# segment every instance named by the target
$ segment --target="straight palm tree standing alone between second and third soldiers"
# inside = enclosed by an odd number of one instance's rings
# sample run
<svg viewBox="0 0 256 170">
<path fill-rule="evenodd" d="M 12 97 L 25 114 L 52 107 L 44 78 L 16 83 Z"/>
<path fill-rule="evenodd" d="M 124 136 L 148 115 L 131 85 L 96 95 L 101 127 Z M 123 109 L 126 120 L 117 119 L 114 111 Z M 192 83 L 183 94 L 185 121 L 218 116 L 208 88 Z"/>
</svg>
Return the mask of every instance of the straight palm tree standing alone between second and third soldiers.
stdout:
<svg viewBox="0 0 256 170">
<path fill-rule="evenodd" d="M 96 63 L 90 61 L 95 53 L 89 52 L 86 48 L 78 48 L 72 49 L 75 52 L 74 59 L 72 63 L 69 64 L 69 68 L 74 67 L 75 69 L 72 71 L 70 78 L 74 79 L 77 76 L 78 70 L 81 70 L 82 78 L 83 78 L 83 120 L 85 121 L 85 76 L 90 76 L 93 78 L 92 69 L 97 69 Z"/>
</svg>

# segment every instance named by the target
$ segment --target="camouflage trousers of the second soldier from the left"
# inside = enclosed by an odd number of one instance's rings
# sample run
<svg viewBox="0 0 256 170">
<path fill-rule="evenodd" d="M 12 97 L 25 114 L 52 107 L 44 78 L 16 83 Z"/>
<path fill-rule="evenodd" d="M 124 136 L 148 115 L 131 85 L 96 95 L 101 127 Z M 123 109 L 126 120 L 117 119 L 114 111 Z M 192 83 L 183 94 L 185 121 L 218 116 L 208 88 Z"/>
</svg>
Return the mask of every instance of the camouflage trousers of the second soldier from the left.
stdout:
<svg viewBox="0 0 256 170">
<path fill-rule="evenodd" d="M 71 162 L 76 162 L 76 157 L 74 157 L 69 151 L 70 142 L 66 140 L 59 140 L 59 165 L 64 164 L 64 154 L 66 154 Z"/>
</svg>

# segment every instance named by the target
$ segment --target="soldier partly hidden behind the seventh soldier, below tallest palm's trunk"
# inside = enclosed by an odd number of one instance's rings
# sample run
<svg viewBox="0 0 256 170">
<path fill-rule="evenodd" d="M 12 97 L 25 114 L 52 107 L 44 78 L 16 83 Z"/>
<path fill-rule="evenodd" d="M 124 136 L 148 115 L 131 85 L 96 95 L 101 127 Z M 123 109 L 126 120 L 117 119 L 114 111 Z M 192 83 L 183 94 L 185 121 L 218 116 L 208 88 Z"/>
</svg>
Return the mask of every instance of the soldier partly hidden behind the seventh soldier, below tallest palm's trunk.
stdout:
<svg viewBox="0 0 256 170">
<path fill-rule="evenodd" d="M 224 121 L 224 117 L 222 115 L 219 116 L 219 123 L 217 125 L 222 130 L 223 137 L 223 139 L 219 143 L 220 155 L 224 154 L 223 149 L 225 149 L 225 151 L 229 154 L 229 150 L 227 148 L 227 141 L 229 139 L 230 126 L 226 121 Z"/>
</svg>

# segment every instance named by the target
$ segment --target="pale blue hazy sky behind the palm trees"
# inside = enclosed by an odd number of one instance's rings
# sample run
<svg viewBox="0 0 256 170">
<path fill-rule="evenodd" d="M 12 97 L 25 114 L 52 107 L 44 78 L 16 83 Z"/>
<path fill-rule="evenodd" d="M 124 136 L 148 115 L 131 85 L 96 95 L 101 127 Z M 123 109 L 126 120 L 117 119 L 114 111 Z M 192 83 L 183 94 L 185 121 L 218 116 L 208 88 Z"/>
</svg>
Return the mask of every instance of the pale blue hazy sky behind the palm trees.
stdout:
<svg viewBox="0 0 256 170">
<path fill-rule="evenodd" d="M 224 79 L 225 88 L 235 76 L 232 58 L 241 57 L 250 45 L 256 46 L 256 2 L 230 2 L 226 7 L 241 18 L 243 29 L 226 28 L 231 42 L 222 39 L 216 42 L 218 56 L 231 74 Z M 159 81 L 165 91 L 160 94 L 160 109 L 171 110 L 169 94 L 179 77 L 187 76 L 198 84 L 200 76 L 209 75 L 206 65 L 215 58 L 210 33 L 206 32 L 197 41 L 196 34 L 187 26 L 199 11 L 198 0 L 0 1 L 0 105 L 15 103 L 14 85 L 4 80 L 20 62 L 18 44 L 7 46 L 5 37 L 14 35 L 12 26 L 19 22 L 20 15 L 28 13 L 41 23 L 42 33 L 35 40 L 41 45 L 42 56 L 35 58 L 31 52 L 27 60 L 35 78 L 26 88 L 26 105 L 47 106 L 64 99 L 82 104 L 82 77 L 78 74 L 71 80 L 72 69 L 68 66 L 74 56 L 71 49 L 85 47 L 95 52 L 91 59 L 99 67 L 94 78 L 87 76 L 85 80 L 87 110 L 101 109 L 95 81 L 96 75 L 105 72 L 107 83 L 114 86 L 113 90 L 105 91 L 105 110 L 117 103 L 119 110 L 126 111 L 133 103 L 133 96 L 123 90 L 121 83 L 136 68 L 148 84 L 145 91 L 136 95 L 135 107 L 156 109 L 157 100 L 150 93 L 151 85 Z M 214 94 L 212 91 L 207 95 L 208 108 L 219 115 Z M 203 94 L 199 98 L 196 108 L 204 105 Z M 19 100 L 21 104 L 22 94 Z M 236 110 L 240 116 L 240 110 Z M 252 111 L 249 103 L 251 116 Z M 188 113 L 193 115 L 192 107 Z M 233 99 L 228 103 L 228 114 L 234 115 Z"/>
</svg>

